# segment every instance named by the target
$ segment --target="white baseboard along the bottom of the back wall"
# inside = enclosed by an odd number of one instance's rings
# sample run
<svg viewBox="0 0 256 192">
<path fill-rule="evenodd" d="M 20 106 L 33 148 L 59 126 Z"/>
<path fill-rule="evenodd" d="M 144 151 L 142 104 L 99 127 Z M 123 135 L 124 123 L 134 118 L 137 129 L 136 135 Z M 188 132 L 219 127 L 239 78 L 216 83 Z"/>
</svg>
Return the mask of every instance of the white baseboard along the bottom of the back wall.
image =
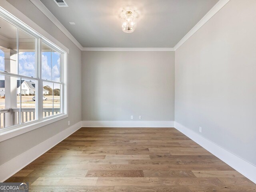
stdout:
<svg viewBox="0 0 256 192">
<path fill-rule="evenodd" d="M 82 127 L 174 127 L 174 121 L 82 121 Z"/>
</svg>

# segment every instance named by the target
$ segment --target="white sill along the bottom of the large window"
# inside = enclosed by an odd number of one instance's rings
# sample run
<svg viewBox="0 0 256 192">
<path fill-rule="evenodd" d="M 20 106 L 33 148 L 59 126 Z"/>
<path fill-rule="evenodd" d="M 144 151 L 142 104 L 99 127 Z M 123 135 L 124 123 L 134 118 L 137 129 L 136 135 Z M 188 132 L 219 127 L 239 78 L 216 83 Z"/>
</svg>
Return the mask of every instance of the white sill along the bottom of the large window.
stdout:
<svg viewBox="0 0 256 192">
<path fill-rule="evenodd" d="M 32 131 L 34 129 L 49 125 L 50 123 L 60 121 L 61 119 L 65 119 L 67 117 L 67 114 L 60 114 L 56 116 L 54 115 L 53 117 L 49 117 L 43 120 L 36 120 L 29 123 L 24 123 L 23 125 L 0 129 L 0 142 L 10 139 L 12 137 L 16 137 L 23 133 L 27 133 L 28 131 Z"/>
</svg>

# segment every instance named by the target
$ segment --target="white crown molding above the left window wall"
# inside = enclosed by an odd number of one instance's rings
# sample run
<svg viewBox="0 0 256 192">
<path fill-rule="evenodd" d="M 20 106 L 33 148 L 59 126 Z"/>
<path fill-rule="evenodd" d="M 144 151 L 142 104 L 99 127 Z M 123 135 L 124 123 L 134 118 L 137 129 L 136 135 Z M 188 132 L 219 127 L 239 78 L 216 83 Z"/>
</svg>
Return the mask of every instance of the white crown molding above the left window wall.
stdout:
<svg viewBox="0 0 256 192">
<path fill-rule="evenodd" d="M 44 6 L 40 0 L 30 0 L 48 19 L 59 28 L 80 50 L 83 49 L 81 44 L 72 36 L 72 34 L 61 24 L 61 22 Z"/>
</svg>

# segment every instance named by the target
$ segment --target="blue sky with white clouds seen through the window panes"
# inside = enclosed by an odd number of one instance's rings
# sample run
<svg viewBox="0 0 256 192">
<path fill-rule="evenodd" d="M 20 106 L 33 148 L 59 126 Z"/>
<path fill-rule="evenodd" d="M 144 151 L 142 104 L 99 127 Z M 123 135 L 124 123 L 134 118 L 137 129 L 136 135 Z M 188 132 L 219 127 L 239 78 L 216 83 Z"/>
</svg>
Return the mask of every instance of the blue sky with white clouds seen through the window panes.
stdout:
<svg viewBox="0 0 256 192">
<path fill-rule="evenodd" d="M 19 53 L 19 74 L 28 77 L 36 75 L 35 52 Z M 52 61 L 52 62 L 51 62 Z M 0 49 L 0 71 L 4 71 L 4 52 Z M 0 75 L 0 79 L 4 76 Z M 42 78 L 60 81 L 60 53 L 56 51 L 42 52 Z"/>
</svg>

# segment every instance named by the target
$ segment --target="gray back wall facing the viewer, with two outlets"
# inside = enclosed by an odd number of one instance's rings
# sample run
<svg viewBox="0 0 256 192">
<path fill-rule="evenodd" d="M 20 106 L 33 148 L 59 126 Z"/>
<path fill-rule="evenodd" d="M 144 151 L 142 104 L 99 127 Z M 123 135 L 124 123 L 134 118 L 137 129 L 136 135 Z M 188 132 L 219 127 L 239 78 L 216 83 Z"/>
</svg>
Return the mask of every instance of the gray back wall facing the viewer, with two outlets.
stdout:
<svg viewBox="0 0 256 192">
<path fill-rule="evenodd" d="M 174 52 L 82 51 L 84 121 L 174 121 Z"/>
</svg>

